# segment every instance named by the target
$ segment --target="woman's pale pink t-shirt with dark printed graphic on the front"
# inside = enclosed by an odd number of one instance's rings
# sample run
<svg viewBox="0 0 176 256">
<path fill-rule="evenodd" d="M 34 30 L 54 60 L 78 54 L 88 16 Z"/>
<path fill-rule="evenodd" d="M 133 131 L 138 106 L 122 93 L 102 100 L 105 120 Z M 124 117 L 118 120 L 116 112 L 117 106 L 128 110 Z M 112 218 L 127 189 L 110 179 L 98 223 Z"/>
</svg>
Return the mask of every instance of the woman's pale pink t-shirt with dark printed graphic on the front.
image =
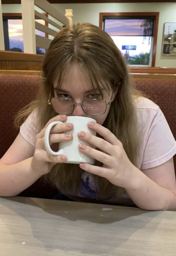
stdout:
<svg viewBox="0 0 176 256">
<path fill-rule="evenodd" d="M 176 154 L 176 141 L 167 124 L 166 118 L 159 106 L 151 100 L 140 97 L 137 99 L 138 128 L 142 134 L 140 156 L 138 156 L 140 170 L 159 166 L 167 162 Z M 36 135 L 39 133 L 36 127 L 36 112 L 31 113 L 20 127 L 20 134 L 35 147 Z M 62 194 L 77 201 L 98 200 L 96 196 L 97 188 L 93 180 L 93 175 L 83 172 L 81 175 L 81 187 L 78 194 L 70 191 L 61 191 Z M 132 204 L 126 192 L 119 195 L 114 194 L 111 198 L 103 200 L 105 203 Z"/>
</svg>

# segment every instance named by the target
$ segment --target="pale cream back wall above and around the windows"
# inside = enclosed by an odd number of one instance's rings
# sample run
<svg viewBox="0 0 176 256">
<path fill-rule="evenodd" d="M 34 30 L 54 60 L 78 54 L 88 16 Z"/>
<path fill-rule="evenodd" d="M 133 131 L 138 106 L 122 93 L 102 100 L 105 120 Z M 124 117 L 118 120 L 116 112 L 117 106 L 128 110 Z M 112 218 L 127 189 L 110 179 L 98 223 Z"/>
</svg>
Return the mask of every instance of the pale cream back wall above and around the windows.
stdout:
<svg viewBox="0 0 176 256">
<path fill-rule="evenodd" d="M 157 37 L 157 67 L 176 68 L 176 56 L 162 56 L 163 25 L 176 22 L 176 3 L 90 3 L 90 4 L 53 4 L 61 13 L 65 9 L 73 10 L 73 22 L 91 22 L 99 26 L 100 12 L 159 12 Z M 20 4 L 2 4 L 2 12 L 21 12 Z"/>
</svg>

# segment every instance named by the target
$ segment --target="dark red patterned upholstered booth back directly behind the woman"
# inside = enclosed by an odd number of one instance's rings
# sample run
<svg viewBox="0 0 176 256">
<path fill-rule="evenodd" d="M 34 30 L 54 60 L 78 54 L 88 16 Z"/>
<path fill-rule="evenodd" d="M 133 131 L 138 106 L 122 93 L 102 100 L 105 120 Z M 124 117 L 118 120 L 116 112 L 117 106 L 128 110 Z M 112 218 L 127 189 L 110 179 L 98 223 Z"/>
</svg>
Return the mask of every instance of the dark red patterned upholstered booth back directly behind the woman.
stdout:
<svg viewBox="0 0 176 256">
<path fill-rule="evenodd" d="M 158 104 L 176 138 L 176 79 L 132 78 L 137 88 Z M 0 157 L 13 143 L 17 131 L 14 115 L 34 99 L 40 78 L 37 75 L 0 74 Z M 174 157 L 176 169 L 176 156 Z M 40 179 L 20 195 L 52 198 L 57 192 L 41 183 Z"/>
</svg>

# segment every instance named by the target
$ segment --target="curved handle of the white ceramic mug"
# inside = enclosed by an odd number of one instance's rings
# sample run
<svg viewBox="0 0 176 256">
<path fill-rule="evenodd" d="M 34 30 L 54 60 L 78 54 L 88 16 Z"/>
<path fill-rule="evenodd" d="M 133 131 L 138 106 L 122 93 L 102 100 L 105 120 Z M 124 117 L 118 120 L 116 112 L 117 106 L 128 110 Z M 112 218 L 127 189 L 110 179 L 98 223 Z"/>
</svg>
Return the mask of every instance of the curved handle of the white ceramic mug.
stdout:
<svg viewBox="0 0 176 256">
<path fill-rule="evenodd" d="M 47 152 L 49 154 L 51 154 L 52 156 L 57 156 L 59 154 L 63 154 L 63 149 L 60 149 L 59 151 L 55 152 L 51 149 L 50 145 L 49 145 L 49 132 L 51 131 L 51 128 L 54 125 L 57 124 L 63 124 L 63 122 L 60 121 L 54 121 L 51 124 L 48 125 L 47 129 L 45 130 L 45 137 L 44 137 L 44 143 L 45 143 L 45 149 L 47 150 Z"/>
</svg>

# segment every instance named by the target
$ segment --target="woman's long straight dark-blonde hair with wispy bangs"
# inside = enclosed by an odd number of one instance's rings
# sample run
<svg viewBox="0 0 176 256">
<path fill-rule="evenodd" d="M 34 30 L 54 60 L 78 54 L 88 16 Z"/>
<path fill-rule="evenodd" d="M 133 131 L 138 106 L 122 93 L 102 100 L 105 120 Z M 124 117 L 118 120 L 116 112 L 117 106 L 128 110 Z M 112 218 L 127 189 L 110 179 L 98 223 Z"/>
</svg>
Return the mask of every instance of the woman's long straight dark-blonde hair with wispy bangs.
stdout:
<svg viewBox="0 0 176 256">
<path fill-rule="evenodd" d="M 137 130 L 137 113 L 135 97 L 138 91 L 129 83 L 128 68 L 124 57 L 116 47 L 112 38 L 99 27 L 89 23 L 76 23 L 65 26 L 52 40 L 42 65 L 43 81 L 34 102 L 23 109 L 16 117 L 16 124 L 23 121 L 34 109 L 38 111 L 38 125 L 42 129 L 49 119 L 58 115 L 47 104 L 50 93 L 53 93 L 53 82 L 58 77 L 58 88 L 61 87 L 67 69 L 77 63 L 86 70 L 92 87 L 106 81 L 106 90 L 110 85 L 117 90 L 108 116 L 103 126 L 108 128 L 122 142 L 129 160 L 137 167 L 140 149 L 140 138 Z M 96 163 L 102 165 L 102 163 Z M 44 175 L 60 191 L 78 191 L 82 170 L 79 165 L 56 164 Z M 99 199 L 109 197 L 118 187 L 107 179 L 94 175 L 97 183 Z M 119 188 L 120 190 L 120 188 Z"/>
</svg>

